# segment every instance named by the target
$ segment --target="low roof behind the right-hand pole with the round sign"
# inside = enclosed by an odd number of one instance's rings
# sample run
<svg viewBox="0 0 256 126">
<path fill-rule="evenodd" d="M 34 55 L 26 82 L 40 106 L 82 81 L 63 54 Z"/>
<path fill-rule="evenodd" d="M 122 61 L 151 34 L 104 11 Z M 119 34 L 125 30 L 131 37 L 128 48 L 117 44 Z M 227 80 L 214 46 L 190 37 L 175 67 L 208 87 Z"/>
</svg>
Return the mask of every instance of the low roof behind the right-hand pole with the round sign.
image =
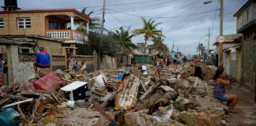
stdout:
<svg viewBox="0 0 256 126">
<path fill-rule="evenodd" d="M 224 42 L 223 43 L 239 43 L 239 40 L 243 38 L 243 34 L 230 34 L 230 35 L 223 35 Z M 218 42 L 215 42 L 213 45 L 218 45 Z"/>
</svg>

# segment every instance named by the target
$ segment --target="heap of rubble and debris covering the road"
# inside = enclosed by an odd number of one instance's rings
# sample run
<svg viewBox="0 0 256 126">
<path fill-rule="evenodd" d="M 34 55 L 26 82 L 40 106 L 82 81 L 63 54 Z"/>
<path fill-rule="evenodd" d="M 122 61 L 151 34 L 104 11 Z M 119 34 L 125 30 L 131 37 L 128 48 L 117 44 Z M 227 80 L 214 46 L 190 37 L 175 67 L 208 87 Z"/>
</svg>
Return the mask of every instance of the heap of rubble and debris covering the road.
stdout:
<svg viewBox="0 0 256 126">
<path fill-rule="evenodd" d="M 196 67 L 201 76 L 194 76 Z M 205 80 L 213 73 L 203 64 L 165 67 L 161 80 L 151 65 L 90 73 L 58 69 L 1 87 L 0 113 L 15 114 L 0 114 L 0 125 L 221 125 L 228 108 L 209 93 L 213 87 Z"/>
</svg>

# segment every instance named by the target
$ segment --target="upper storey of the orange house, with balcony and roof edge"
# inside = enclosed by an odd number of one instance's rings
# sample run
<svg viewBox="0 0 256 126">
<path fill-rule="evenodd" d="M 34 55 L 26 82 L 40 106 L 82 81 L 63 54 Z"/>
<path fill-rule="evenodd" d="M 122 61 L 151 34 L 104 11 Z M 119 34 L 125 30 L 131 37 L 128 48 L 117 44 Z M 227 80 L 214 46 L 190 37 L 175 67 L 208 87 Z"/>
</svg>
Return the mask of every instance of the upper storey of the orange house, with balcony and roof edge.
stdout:
<svg viewBox="0 0 256 126">
<path fill-rule="evenodd" d="M 61 40 L 75 54 L 75 44 L 88 41 L 90 18 L 76 9 L 17 9 L 0 12 L 0 35 L 40 35 Z M 76 31 L 75 22 L 87 22 L 86 33 Z M 55 48 L 43 45 L 46 49 Z"/>
</svg>

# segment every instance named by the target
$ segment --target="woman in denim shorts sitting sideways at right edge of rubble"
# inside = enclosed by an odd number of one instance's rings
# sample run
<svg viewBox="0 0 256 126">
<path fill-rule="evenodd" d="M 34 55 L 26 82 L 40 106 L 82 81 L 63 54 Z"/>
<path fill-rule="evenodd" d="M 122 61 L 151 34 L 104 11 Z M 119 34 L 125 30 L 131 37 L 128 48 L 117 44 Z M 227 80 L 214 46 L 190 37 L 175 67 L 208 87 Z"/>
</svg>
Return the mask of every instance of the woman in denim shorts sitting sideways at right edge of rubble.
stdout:
<svg viewBox="0 0 256 126">
<path fill-rule="evenodd" d="M 230 84 L 230 81 L 225 80 L 224 69 L 223 68 L 216 69 L 216 73 L 214 76 L 214 89 L 213 89 L 214 98 L 219 99 L 220 101 L 227 101 L 229 112 L 236 113 L 234 111 L 234 107 L 238 100 L 238 96 L 235 94 L 227 93 L 225 86 L 229 84 Z"/>
</svg>

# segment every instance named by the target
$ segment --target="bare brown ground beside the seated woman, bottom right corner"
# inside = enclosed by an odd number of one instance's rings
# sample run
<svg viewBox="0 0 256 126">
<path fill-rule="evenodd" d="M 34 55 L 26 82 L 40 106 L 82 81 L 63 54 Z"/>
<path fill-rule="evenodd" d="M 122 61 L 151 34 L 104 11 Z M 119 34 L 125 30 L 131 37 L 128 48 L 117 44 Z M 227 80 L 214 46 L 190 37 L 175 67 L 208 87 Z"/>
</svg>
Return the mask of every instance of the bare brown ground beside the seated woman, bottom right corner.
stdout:
<svg viewBox="0 0 256 126">
<path fill-rule="evenodd" d="M 231 122 L 228 122 L 228 124 L 256 125 L 256 103 L 254 102 L 254 91 L 247 87 L 241 87 L 240 83 L 232 83 L 231 87 L 228 88 L 228 92 L 239 96 L 239 100 L 235 106 L 235 111 L 238 111 L 239 113 L 229 113 L 229 115 L 231 115 Z"/>
</svg>

